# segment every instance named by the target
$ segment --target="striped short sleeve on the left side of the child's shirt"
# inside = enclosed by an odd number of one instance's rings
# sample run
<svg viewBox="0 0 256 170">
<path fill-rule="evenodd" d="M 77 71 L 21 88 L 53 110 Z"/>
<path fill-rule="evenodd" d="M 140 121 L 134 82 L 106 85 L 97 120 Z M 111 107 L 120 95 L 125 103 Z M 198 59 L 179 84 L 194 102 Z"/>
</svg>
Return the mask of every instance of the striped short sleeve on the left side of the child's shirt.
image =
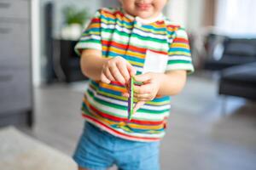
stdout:
<svg viewBox="0 0 256 170">
<path fill-rule="evenodd" d="M 96 12 L 94 17 L 90 20 L 89 26 L 83 31 L 79 42 L 75 45 L 75 52 L 81 55 L 83 49 L 91 48 L 102 51 L 102 37 L 101 37 L 101 19 L 100 10 Z"/>
</svg>

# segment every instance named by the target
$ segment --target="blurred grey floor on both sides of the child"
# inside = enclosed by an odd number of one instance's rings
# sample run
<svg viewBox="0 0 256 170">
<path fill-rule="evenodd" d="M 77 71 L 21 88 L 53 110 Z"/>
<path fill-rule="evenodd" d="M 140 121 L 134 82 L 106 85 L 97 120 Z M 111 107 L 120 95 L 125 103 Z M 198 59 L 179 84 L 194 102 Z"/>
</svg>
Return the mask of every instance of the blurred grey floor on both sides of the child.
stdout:
<svg viewBox="0 0 256 170">
<path fill-rule="evenodd" d="M 36 88 L 36 124 L 22 130 L 71 156 L 83 127 L 85 88 L 84 83 Z M 172 98 L 160 151 L 162 170 L 255 170 L 256 103 L 219 97 L 214 78 L 191 76 L 183 93 Z"/>
</svg>

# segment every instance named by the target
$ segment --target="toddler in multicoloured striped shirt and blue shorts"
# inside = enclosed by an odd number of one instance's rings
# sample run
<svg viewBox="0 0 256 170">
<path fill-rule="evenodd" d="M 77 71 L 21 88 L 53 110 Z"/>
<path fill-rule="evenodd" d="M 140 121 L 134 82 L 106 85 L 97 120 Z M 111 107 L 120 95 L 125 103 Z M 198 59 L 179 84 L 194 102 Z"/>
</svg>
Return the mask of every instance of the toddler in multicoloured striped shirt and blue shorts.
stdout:
<svg viewBox="0 0 256 170">
<path fill-rule="evenodd" d="M 193 71 L 183 27 L 161 11 L 167 0 L 119 0 L 99 9 L 75 50 L 90 78 L 82 105 L 84 131 L 73 159 L 79 169 L 158 170 L 159 144 L 178 94 Z M 128 120 L 127 85 L 136 105 Z"/>
</svg>

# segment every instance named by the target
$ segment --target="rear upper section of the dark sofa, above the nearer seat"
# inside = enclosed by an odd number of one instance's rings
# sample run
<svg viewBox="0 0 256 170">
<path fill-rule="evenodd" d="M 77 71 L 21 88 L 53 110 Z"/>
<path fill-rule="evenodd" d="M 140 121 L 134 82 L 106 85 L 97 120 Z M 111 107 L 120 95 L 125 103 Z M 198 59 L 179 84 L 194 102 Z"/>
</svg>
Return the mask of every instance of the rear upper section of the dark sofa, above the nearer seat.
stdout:
<svg viewBox="0 0 256 170">
<path fill-rule="evenodd" d="M 230 66 L 256 62 L 256 38 L 211 35 L 207 48 L 205 70 L 222 71 Z"/>
</svg>

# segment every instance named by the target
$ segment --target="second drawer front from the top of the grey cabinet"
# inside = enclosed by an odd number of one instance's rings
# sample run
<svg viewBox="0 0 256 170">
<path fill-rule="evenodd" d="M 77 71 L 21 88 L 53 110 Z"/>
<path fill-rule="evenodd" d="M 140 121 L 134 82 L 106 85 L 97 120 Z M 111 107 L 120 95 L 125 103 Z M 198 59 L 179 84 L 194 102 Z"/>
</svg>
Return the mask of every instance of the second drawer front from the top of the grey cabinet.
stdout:
<svg viewBox="0 0 256 170">
<path fill-rule="evenodd" d="M 30 65 L 29 29 L 28 22 L 6 22 L 0 19 L 0 66 Z"/>
</svg>

